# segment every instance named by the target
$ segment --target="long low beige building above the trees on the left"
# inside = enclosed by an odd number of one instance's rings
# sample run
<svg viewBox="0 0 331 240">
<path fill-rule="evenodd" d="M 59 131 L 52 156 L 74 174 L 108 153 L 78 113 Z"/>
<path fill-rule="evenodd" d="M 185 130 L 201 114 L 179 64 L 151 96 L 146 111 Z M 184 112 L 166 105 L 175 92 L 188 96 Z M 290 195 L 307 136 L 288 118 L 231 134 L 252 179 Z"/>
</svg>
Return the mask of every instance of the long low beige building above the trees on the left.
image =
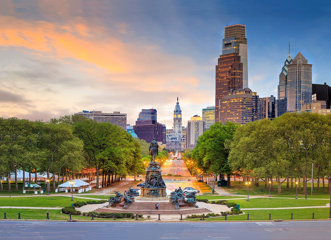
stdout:
<svg viewBox="0 0 331 240">
<path fill-rule="evenodd" d="M 126 130 L 126 113 L 113 112 L 103 113 L 102 111 L 82 111 L 74 113 L 73 115 L 81 115 L 87 119 L 92 119 L 97 122 L 110 122 L 113 125 L 121 127 Z"/>
</svg>

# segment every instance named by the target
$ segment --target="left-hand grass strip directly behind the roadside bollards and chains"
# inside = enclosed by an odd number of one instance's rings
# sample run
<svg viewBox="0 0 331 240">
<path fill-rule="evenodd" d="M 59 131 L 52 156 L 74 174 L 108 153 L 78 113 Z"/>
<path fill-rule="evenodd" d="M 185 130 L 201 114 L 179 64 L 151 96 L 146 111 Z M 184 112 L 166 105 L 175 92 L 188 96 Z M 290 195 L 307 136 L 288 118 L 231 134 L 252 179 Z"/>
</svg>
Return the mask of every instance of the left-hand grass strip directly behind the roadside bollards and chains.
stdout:
<svg viewBox="0 0 331 240">
<path fill-rule="evenodd" d="M 61 214 L 61 210 L 46 210 L 46 209 L 14 209 L 14 208 L 6 208 L 0 209 L 0 219 L 3 219 L 4 212 L 7 213 L 7 219 L 17 219 L 18 212 L 21 213 L 22 219 L 35 219 L 35 220 L 44 220 L 46 219 L 46 213 L 49 213 L 50 220 L 68 220 L 69 215 Z M 84 216 L 71 216 L 74 220 L 91 220 L 91 217 L 84 217 Z M 105 218 L 94 218 L 97 221 L 103 220 L 113 220 L 113 219 L 105 219 Z M 120 220 L 135 220 L 135 219 L 116 219 Z M 146 217 L 139 220 L 146 220 Z"/>
</svg>

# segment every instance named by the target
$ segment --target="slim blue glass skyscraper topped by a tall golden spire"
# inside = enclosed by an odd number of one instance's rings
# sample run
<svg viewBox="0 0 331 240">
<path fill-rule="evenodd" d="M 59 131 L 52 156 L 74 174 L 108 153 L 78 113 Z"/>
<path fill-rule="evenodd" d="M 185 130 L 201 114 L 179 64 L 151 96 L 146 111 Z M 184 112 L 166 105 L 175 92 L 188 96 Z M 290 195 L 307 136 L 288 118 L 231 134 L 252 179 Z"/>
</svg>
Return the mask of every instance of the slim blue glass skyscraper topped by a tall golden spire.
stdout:
<svg viewBox="0 0 331 240">
<path fill-rule="evenodd" d="M 279 85 L 278 85 L 278 99 L 277 99 L 277 116 L 281 116 L 286 113 L 287 108 L 287 65 L 292 62 L 290 55 L 290 42 L 289 42 L 289 55 L 284 62 L 282 72 L 279 74 Z"/>
</svg>

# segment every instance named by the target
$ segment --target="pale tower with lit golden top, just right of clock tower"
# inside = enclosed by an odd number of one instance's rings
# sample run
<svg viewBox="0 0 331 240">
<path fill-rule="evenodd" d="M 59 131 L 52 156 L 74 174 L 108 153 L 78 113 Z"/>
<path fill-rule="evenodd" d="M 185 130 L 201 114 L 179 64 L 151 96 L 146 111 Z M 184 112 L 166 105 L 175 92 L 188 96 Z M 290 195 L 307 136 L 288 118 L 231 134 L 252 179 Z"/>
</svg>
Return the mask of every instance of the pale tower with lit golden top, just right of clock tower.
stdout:
<svg viewBox="0 0 331 240">
<path fill-rule="evenodd" d="M 186 148 L 195 148 L 198 138 L 205 131 L 205 121 L 198 115 L 191 117 L 187 122 Z"/>
</svg>

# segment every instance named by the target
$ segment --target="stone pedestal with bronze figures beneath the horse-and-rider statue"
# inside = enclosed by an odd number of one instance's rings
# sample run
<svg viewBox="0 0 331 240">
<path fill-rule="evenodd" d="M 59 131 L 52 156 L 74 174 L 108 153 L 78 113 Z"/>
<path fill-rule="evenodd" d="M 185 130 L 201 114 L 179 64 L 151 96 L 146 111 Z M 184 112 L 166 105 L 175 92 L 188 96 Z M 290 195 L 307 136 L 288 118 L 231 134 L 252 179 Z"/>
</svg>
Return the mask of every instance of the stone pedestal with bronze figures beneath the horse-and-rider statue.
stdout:
<svg viewBox="0 0 331 240">
<path fill-rule="evenodd" d="M 143 198 L 159 198 L 166 197 L 166 184 L 162 179 L 162 170 L 159 162 L 149 162 L 146 168 L 146 180 L 144 183 L 138 184 L 140 187 L 140 197 Z"/>
</svg>

